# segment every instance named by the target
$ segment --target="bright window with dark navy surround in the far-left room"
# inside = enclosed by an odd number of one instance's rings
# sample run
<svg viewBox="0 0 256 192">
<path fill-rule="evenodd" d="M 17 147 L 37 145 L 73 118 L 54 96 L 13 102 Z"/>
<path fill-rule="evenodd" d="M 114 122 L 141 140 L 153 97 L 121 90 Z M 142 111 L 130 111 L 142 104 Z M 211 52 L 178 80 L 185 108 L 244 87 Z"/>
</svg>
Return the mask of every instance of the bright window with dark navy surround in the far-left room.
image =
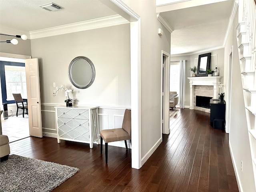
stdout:
<svg viewBox="0 0 256 192">
<path fill-rule="evenodd" d="M 24 63 L 0 61 L 0 76 L 3 103 L 15 103 L 13 93 L 20 93 L 22 98 L 27 98 Z"/>
</svg>

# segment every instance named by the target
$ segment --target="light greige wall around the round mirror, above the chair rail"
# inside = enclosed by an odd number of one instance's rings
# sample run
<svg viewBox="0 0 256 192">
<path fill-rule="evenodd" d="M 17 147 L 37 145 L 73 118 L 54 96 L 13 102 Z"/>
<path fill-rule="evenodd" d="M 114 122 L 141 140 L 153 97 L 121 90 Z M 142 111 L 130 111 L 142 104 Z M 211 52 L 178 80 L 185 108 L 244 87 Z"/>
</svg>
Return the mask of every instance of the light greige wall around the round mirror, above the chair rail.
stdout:
<svg viewBox="0 0 256 192">
<path fill-rule="evenodd" d="M 129 24 L 31 40 L 32 57 L 39 58 L 41 102 L 64 104 L 64 92 L 53 96 L 53 82 L 74 90 L 75 104 L 130 106 Z M 74 87 L 68 66 L 77 56 L 94 64 L 96 76 L 86 89 Z"/>
</svg>

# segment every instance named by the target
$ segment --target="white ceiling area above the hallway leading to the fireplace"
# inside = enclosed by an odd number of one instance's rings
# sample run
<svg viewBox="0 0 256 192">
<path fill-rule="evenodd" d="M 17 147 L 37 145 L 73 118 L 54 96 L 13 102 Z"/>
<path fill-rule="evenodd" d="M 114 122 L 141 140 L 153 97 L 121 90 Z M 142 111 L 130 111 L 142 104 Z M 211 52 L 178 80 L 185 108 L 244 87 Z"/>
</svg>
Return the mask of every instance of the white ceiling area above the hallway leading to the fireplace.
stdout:
<svg viewBox="0 0 256 192">
<path fill-rule="evenodd" d="M 222 47 L 233 3 L 224 1 L 160 13 L 174 30 L 171 54 Z"/>
</svg>

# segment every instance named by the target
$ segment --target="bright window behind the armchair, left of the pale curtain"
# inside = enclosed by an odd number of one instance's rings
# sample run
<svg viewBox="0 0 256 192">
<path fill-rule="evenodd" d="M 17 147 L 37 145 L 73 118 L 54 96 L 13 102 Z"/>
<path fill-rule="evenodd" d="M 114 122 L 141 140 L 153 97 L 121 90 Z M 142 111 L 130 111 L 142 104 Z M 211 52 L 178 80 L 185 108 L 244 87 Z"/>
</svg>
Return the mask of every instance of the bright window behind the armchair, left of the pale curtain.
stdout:
<svg viewBox="0 0 256 192">
<path fill-rule="evenodd" d="M 180 94 L 180 62 L 170 64 L 170 91 Z"/>
</svg>

